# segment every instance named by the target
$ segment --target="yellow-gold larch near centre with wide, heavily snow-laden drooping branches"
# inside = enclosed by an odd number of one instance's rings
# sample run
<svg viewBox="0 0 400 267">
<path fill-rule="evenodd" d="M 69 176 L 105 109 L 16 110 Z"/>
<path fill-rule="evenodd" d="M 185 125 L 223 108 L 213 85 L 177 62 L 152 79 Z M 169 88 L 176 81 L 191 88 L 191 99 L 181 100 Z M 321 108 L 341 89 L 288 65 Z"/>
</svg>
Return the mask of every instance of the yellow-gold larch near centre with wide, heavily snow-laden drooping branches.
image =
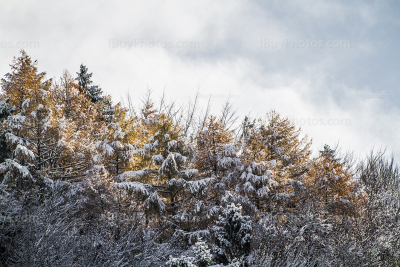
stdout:
<svg viewBox="0 0 400 267">
<path fill-rule="evenodd" d="M 156 113 L 149 101 L 141 110 L 139 140 L 132 144 L 134 164 L 132 170 L 117 176 L 121 181 L 118 187 L 141 203 L 146 224 L 154 218 L 159 227 L 169 225 L 170 230 L 191 236 L 206 234 L 207 230 L 201 230 L 206 225 L 199 226 L 196 221 L 203 205 L 199 200 L 213 178 L 196 178 L 194 150 L 169 116 Z"/>
</svg>

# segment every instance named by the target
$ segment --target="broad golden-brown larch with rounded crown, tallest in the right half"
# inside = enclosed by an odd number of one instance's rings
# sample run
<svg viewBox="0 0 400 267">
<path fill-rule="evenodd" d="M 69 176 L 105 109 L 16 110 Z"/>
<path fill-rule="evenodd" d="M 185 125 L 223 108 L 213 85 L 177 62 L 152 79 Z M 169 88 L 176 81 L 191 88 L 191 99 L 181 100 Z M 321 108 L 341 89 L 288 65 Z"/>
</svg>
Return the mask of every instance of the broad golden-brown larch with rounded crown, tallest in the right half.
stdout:
<svg viewBox="0 0 400 267">
<path fill-rule="evenodd" d="M 311 153 L 307 136 L 300 138 L 293 122 L 275 111 L 267 118 L 251 125 L 244 122 L 240 139 L 243 169 L 236 193 L 243 204 L 258 211 L 276 211 L 279 202 L 285 205 L 293 188 L 301 186 Z"/>
</svg>

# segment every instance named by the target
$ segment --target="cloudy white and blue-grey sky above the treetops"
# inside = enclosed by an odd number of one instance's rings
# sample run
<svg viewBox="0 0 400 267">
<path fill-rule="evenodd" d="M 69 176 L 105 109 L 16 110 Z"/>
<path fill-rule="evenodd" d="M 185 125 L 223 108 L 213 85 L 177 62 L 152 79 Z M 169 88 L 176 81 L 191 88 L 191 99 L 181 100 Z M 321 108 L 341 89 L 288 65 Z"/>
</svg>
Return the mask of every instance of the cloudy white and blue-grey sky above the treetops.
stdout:
<svg viewBox="0 0 400 267">
<path fill-rule="evenodd" d="M 312 149 L 400 158 L 400 2 L 0 0 L 0 76 L 23 48 L 47 77 L 83 63 L 114 102 L 147 88 L 218 112 L 269 110 Z"/>
</svg>

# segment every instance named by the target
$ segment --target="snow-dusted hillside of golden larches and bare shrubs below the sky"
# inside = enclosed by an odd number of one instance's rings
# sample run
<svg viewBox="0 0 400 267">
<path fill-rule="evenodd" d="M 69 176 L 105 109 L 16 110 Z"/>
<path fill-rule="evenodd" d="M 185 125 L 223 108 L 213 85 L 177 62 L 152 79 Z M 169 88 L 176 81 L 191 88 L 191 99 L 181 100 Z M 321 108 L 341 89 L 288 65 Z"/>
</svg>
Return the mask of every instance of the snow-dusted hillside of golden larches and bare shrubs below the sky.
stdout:
<svg viewBox="0 0 400 267">
<path fill-rule="evenodd" d="M 0 265 L 400 265 L 384 151 L 313 152 L 274 110 L 114 103 L 91 79 L 48 79 L 23 50 L 1 78 Z"/>
</svg>

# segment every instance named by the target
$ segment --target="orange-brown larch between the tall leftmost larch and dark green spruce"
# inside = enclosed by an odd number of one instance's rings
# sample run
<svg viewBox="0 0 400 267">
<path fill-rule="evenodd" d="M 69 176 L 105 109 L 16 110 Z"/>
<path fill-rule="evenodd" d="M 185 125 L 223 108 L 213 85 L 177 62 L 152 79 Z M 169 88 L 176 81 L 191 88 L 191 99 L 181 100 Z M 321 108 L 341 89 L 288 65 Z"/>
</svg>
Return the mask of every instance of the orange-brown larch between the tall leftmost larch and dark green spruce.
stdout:
<svg viewBox="0 0 400 267">
<path fill-rule="evenodd" d="M 51 86 L 57 110 L 62 148 L 59 163 L 52 175 L 67 180 L 81 180 L 90 169 L 94 154 L 94 137 L 102 133 L 105 122 L 98 119 L 101 113 L 91 106 L 90 100 L 79 90 L 72 76 L 64 70 L 59 80 Z"/>
</svg>

